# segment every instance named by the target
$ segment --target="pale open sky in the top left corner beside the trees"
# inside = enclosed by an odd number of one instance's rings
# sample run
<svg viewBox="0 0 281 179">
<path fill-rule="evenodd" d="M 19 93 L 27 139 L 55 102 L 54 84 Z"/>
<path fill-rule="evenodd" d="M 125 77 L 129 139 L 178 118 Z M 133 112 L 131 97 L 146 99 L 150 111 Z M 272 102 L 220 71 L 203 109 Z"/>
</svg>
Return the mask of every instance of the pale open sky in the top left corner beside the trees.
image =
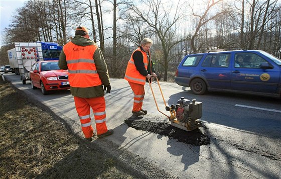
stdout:
<svg viewBox="0 0 281 179">
<path fill-rule="evenodd" d="M 4 29 L 9 27 L 11 24 L 12 16 L 16 13 L 17 8 L 21 8 L 24 6 L 24 3 L 27 0 L 0 0 L 0 28 L 1 28 L 1 38 L 0 38 L 0 46 L 4 45 L 2 42 L 2 35 Z"/>
</svg>

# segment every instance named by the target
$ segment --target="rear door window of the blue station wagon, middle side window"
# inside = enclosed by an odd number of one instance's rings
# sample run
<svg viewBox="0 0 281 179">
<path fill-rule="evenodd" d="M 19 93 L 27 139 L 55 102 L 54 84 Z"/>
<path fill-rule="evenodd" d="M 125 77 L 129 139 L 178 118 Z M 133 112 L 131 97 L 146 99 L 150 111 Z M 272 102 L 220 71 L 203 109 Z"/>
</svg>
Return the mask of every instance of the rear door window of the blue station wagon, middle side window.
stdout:
<svg viewBox="0 0 281 179">
<path fill-rule="evenodd" d="M 230 54 L 213 54 L 207 55 L 203 67 L 228 67 L 229 66 Z"/>
</svg>

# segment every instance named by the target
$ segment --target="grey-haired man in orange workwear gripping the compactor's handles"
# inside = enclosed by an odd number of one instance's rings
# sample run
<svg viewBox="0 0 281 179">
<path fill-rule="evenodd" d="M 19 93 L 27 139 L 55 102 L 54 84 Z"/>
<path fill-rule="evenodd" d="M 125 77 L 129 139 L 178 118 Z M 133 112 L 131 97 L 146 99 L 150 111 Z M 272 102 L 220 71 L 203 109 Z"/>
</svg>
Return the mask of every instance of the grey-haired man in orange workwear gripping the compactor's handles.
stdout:
<svg viewBox="0 0 281 179">
<path fill-rule="evenodd" d="M 151 46 L 152 40 L 144 38 L 139 47 L 133 51 L 124 77 L 134 93 L 132 114 L 136 116 L 148 113 L 147 110 L 142 108 L 145 97 L 145 83 L 152 76 L 157 77 L 150 54 Z"/>
</svg>

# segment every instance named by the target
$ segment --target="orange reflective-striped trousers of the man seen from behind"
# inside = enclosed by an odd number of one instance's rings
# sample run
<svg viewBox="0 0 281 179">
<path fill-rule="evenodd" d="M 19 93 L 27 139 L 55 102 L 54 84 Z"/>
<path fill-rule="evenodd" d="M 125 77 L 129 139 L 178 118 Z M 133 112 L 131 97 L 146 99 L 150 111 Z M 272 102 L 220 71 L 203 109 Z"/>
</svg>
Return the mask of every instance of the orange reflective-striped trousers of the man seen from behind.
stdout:
<svg viewBox="0 0 281 179">
<path fill-rule="evenodd" d="M 107 132 L 107 126 L 105 124 L 106 114 L 105 114 L 105 100 L 104 97 L 97 98 L 80 98 L 74 97 L 76 111 L 80 118 L 82 131 L 86 138 L 93 136 L 93 127 L 91 125 L 90 118 L 90 108 L 92 108 L 97 134 L 103 134 Z"/>
</svg>

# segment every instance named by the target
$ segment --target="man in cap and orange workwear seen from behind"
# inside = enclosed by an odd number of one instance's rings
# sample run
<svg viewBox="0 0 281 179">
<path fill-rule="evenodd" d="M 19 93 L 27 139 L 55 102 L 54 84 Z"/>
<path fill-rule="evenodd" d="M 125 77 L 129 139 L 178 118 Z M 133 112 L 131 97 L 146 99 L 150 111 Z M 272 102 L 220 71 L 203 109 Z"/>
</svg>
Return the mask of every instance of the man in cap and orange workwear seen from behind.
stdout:
<svg viewBox="0 0 281 179">
<path fill-rule="evenodd" d="M 68 69 L 71 95 L 74 96 L 76 111 L 82 131 L 88 141 L 92 140 L 90 108 L 92 108 L 98 137 L 111 135 L 105 124 L 104 91 L 110 93 L 111 86 L 103 55 L 90 40 L 89 31 L 83 26 L 75 30 L 75 37 L 63 46 L 59 67 Z"/>
</svg>

